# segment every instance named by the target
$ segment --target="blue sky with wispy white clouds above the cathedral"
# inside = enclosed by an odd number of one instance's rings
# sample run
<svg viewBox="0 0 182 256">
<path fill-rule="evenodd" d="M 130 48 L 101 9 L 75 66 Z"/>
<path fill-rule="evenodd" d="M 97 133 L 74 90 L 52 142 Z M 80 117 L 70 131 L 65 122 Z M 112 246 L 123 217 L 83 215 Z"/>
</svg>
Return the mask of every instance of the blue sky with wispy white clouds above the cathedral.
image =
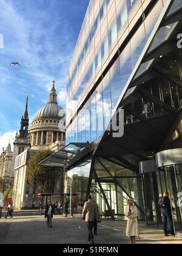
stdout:
<svg viewBox="0 0 182 256">
<path fill-rule="evenodd" d="M 66 107 L 66 75 L 89 0 L 1 0 L 0 152 L 14 140 L 29 92 L 29 116 L 49 97 L 56 80 Z M 20 66 L 10 67 L 11 62 Z"/>
</svg>

